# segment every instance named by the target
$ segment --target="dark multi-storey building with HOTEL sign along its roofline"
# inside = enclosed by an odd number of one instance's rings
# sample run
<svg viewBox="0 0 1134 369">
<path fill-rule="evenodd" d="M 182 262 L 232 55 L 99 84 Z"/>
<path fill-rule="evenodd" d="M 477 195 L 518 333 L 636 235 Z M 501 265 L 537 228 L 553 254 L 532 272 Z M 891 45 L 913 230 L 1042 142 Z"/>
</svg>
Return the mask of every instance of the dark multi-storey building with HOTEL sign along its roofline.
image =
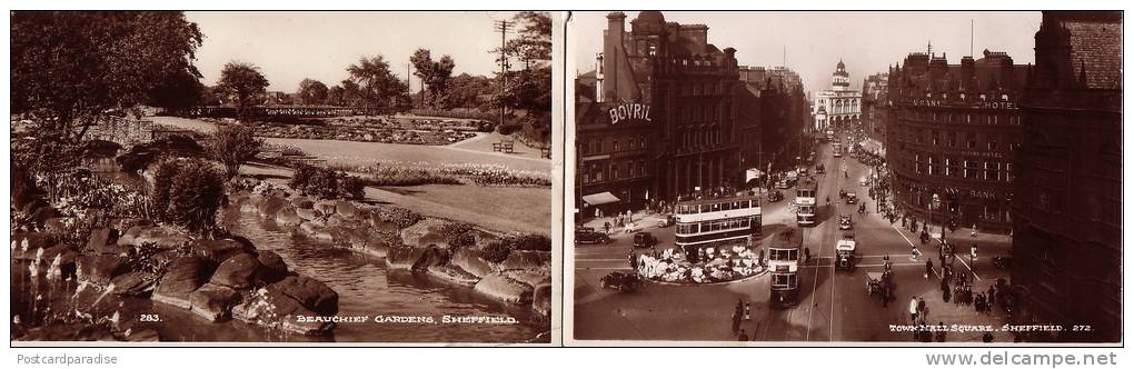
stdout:
<svg viewBox="0 0 1134 369">
<path fill-rule="evenodd" d="M 915 52 L 892 68 L 886 160 L 895 204 L 934 225 L 1007 233 L 1026 74 L 988 50 L 959 65 Z"/>
</svg>

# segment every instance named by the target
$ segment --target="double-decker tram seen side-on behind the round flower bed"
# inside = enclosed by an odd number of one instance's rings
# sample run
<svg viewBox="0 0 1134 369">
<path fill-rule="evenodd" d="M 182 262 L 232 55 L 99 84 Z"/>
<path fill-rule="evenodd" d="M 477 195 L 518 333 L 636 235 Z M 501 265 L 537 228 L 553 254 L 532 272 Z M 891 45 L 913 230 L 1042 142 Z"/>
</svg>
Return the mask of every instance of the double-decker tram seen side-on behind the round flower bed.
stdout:
<svg viewBox="0 0 1134 369">
<path fill-rule="evenodd" d="M 700 248 L 751 248 L 763 224 L 760 196 L 725 195 L 677 202 L 676 244 L 695 254 Z"/>
</svg>

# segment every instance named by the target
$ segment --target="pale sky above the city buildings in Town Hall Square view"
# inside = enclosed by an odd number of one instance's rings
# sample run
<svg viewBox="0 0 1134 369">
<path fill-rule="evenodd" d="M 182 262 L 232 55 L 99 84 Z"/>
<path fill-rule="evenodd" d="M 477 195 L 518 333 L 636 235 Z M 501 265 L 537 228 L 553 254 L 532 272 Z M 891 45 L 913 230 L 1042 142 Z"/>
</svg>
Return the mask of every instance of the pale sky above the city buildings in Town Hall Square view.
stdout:
<svg viewBox="0 0 1134 369">
<path fill-rule="evenodd" d="M 637 11 L 626 14 L 626 31 Z M 1034 36 L 1040 30 L 1039 11 L 663 11 L 666 22 L 709 26 L 709 43 L 737 50 L 736 59 L 747 66 L 785 65 L 799 73 L 804 89 L 827 89 L 841 58 L 858 87 L 865 76 L 887 72 L 909 52 L 945 53 L 949 64 L 960 64 L 970 54 L 970 20 L 973 51 L 980 59 L 985 49 L 1005 51 L 1016 64 L 1034 62 Z M 594 70 L 594 56 L 602 51 L 606 11 L 573 15 L 575 70 Z M 573 74 L 568 74 L 573 75 Z"/>
</svg>

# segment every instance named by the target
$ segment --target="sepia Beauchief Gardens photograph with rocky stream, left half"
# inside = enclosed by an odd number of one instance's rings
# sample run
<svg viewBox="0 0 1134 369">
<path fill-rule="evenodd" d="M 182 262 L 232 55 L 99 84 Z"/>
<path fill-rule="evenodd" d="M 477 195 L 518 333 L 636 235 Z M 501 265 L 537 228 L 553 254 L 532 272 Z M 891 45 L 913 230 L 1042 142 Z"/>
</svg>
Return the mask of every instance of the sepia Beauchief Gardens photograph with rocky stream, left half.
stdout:
<svg viewBox="0 0 1134 369">
<path fill-rule="evenodd" d="M 11 11 L 12 345 L 556 342 L 558 16 Z"/>
</svg>

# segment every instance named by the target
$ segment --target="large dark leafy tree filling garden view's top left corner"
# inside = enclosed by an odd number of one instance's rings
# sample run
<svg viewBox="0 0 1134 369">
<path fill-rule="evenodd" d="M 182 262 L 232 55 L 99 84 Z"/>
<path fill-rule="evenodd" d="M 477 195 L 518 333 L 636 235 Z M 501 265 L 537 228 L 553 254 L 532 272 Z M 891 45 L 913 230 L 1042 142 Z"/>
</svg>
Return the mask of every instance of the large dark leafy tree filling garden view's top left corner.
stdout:
<svg viewBox="0 0 1134 369">
<path fill-rule="evenodd" d="M 34 114 L 61 140 L 201 77 L 201 30 L 179 11 L 12 11 L 10 20 L 12 112 Z"/>
</svg>

